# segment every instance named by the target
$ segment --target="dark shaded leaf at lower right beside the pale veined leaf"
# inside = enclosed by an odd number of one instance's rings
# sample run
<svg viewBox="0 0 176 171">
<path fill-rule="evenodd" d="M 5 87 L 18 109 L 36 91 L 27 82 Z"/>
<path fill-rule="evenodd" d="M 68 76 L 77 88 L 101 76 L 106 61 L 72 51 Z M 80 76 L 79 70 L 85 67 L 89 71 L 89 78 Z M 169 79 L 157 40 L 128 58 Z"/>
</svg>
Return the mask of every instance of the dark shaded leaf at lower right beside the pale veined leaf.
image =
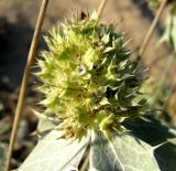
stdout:
<svg viewBox="0 0 176 171">
<path fill-rule="evenodd" d="M 140 118 L 128 121 L 125 127 L 136 138 L 155 147 L 154 156 L 162 171 L 176 171 L 176 130 L 158 121 L 154 114 L 146 119 L 150 121 Z M 160 146 L 162 143 L 164 145 Z"/>
</svg>

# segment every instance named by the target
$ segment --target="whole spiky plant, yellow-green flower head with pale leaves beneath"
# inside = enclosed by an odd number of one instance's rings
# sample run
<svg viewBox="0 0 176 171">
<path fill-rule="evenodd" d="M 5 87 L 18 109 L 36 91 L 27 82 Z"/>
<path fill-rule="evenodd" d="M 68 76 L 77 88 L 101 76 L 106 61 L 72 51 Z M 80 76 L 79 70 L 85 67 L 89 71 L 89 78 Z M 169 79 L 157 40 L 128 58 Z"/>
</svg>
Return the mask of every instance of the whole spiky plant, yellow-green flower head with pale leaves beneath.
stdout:
<svg viewBox="0 0 176 171">
<path fill-rule="evenodd" d="M 20 171 L 77 170 L 86 149 L 89 171 L 160 170 L 153 152 L 164 139 L 152 147 L 143 141 L 147 135 L 139 136 L 158 122 L 140 119 L 146 111 L 140 93 L 144 77 L 130 60 L 123 33 L 94 13 L 66 20 L 45 40 L 48 50 L 37 62 L 45 107 L 38 129 L 52 130 Z"/>
</svg>

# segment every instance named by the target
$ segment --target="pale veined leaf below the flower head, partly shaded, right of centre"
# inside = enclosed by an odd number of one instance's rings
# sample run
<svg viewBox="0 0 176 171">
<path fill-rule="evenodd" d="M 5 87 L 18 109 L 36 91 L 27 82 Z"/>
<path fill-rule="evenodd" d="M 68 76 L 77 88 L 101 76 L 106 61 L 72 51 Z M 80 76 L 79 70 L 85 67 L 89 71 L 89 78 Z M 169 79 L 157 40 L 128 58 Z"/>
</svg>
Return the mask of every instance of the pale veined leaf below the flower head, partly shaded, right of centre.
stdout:
<svg viewBox="0 0 176 171">
<path fill-rule="evenodd" d="M 100 171 L 160 171 L 154 148 L 130 135 L 107 139 L 92 135 L 90 170 Z"/>
</svg>

